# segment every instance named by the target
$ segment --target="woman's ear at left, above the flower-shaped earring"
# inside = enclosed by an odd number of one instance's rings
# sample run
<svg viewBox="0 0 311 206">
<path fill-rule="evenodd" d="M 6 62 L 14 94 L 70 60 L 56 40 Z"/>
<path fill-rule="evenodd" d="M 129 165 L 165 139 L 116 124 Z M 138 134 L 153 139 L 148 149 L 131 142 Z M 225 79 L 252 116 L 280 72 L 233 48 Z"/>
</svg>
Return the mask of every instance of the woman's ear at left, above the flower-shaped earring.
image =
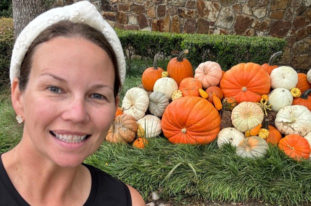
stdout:
<svg viewBox="0 0 311 206">
<path fill-rule="evenodd" d="M 20 90 L 19 87 L 19 78 L 15 77 L 12 82 L 11 87 L 11 99 L 12 105 L 17 114 L 21 114 L 24 118 L 24 107 L 23 107 L 23 92 Z"/>
</svg>

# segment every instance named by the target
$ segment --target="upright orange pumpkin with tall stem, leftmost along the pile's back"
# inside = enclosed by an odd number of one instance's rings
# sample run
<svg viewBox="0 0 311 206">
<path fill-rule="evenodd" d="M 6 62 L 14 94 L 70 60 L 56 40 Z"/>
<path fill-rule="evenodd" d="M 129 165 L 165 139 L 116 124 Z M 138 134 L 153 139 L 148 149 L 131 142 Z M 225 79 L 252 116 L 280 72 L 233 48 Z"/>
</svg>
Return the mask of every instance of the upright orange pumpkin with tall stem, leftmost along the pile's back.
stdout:
<svg viewBox="0 0 311 206">
<path fill-rule="evenodd" d="M 163 68 L 158 67 L 157 58 L 159 53 L 154 55 L 153 67 L 146 68 L 141 75 L 141 84 L 147 91 L 153 91 L 154 83 L 161 78 Z"/>
</svg>

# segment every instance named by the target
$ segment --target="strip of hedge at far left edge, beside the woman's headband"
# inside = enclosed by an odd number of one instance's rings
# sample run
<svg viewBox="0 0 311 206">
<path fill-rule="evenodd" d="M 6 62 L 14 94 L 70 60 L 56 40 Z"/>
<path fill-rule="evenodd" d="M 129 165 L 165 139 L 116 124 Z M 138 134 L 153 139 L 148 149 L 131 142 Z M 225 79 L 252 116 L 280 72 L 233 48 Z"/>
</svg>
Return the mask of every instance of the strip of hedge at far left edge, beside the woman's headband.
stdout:
<svg viewBox="0 0 311 206">
<path fill-rule="evenodd" d="M 14 46 L 13 19 L 0 17 L 0 89 L 10 83 L 10 62 Z"/>
</svg>

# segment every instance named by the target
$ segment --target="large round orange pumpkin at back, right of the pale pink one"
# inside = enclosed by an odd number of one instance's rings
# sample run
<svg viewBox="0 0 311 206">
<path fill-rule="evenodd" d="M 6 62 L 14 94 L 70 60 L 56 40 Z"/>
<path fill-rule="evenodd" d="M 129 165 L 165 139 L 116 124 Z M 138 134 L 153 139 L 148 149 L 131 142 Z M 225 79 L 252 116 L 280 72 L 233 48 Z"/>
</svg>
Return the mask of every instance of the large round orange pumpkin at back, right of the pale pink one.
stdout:
<svg viewBox="0 0 311 206">
<path fill-rule="evenodd" d="M 227 70 L 220 80 L 224 97 L 233 96 L 238 103 L 258 102 L 270 91 L 270 76 L 257 63 L 239 63 Z"/>
</svg>

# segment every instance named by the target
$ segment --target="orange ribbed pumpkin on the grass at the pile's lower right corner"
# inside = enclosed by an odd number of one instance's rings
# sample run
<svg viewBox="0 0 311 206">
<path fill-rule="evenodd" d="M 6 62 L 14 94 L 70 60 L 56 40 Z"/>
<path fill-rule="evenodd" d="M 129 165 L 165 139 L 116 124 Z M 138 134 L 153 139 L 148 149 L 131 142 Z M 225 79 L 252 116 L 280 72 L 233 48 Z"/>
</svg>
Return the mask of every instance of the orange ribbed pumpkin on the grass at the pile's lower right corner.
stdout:
<svg viewBox="0 0 311 206">
<path fill-rule="evenodd" d="M 298 134 L 286 135 L 279 141 L 278 147 L 295 160 L 307 159 L 311 151 L 308 140 Z"/>
</svg>

